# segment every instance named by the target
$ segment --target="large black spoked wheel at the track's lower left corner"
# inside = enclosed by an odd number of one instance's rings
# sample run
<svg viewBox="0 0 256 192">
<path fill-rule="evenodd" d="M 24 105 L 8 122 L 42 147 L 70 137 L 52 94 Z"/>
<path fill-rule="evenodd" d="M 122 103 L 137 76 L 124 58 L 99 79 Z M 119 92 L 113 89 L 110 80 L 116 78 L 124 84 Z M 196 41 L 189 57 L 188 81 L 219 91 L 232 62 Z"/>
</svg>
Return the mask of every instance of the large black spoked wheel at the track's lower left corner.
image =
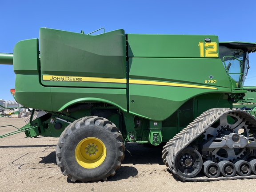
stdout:
<svg viewBox="0 0 256 192">
<path fill-rule="evenodd" d="M 179 176 L 194 177 L 201 171 L 202 166 L 202 156 L 192 147 L 184 148 L 175 157 L 174 168 Z"/>
</svg>

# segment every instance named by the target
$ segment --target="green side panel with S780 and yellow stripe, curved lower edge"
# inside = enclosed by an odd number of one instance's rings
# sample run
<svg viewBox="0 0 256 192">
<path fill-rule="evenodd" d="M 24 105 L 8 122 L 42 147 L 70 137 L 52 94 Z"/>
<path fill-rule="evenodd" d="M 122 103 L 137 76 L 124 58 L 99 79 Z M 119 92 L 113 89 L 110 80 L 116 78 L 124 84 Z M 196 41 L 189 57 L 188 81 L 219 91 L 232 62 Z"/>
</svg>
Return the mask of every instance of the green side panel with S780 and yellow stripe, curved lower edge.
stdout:
<svg viewBox="0 0 256 192">
<path fill-rule="evenodd" d="M 129 110 L 134 115 L 165 120 L 190 98 L 213 92 L 231 92 L 220 59 L 129 58 Z"/>
</svg>

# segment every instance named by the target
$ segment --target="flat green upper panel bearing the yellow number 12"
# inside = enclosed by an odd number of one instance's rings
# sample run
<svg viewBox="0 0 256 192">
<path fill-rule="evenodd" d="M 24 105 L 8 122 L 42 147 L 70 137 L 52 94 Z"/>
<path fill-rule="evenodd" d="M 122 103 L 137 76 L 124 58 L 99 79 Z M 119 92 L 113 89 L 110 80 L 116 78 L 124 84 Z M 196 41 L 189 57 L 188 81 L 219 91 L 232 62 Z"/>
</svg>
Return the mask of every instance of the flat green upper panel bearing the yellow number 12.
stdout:
<svg viewBox="0 0 256 192">
<path fill-rule="evenodd" d="M 128 34 L 128 56 L 215 58 L 219 56 L 218 36 Z"/>
</svg>

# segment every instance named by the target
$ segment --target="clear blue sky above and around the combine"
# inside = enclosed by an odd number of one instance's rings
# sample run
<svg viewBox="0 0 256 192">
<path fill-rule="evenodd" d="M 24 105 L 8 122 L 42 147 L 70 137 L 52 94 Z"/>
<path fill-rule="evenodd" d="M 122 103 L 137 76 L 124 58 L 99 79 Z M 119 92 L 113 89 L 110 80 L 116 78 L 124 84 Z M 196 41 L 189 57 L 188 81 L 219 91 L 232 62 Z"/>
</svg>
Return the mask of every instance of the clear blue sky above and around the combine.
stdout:
<svg viewBox="0 0 256 192">
<path fill-rule="evenodd" d="M 0 52 L 39 38 L 39 28 L 106 32 L 217 35 L 219 41 L 256 42 L 256 0 L 1 0 Z M 256 53 L 245 86 L 256 85 Z M 0 64 L 0 99 L 13 100 L 12 65 Z"/>
</svg>

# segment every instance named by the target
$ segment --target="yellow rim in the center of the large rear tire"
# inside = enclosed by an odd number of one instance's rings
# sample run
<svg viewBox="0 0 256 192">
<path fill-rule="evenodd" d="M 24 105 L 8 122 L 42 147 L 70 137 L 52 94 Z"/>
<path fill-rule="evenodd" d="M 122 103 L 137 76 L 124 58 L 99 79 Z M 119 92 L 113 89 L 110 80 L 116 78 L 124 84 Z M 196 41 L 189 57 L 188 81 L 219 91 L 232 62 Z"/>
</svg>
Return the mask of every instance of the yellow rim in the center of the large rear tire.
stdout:
<svg viewBox="0 0 256 192">
<path fill-rule="evenodd" d="M 88 137 L 76 146 L 76 161 L 84 168 L 96 168 L 106 158 L 107 150 L 104 143 L 96 137 Z"/>
</svg>

